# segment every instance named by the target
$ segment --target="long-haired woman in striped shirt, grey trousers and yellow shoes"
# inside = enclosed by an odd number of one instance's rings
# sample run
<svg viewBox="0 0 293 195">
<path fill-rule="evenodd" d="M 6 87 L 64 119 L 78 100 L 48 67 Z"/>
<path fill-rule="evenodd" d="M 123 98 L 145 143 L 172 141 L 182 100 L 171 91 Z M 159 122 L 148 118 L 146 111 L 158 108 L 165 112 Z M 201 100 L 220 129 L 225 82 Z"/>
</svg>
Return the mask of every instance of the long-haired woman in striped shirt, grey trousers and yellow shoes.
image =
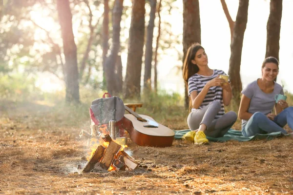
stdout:
<svg viewBox="0 0 293 195">
<path fill-rule="evenodd" d="M 230 83 L 219 75 L 222 70 L 212 70 L 208 66 L 205 49 L 198 43 L 192 44 L 183 65 L 183 78 L 190 97 L 192 108 L 187 118 L 188 132 L 184 138 L 195 144 L 209 142 L 209 137 L 223 137 L 237 119 L 235 112 L 225 114 L 232 97 Z"/>
</svg>

